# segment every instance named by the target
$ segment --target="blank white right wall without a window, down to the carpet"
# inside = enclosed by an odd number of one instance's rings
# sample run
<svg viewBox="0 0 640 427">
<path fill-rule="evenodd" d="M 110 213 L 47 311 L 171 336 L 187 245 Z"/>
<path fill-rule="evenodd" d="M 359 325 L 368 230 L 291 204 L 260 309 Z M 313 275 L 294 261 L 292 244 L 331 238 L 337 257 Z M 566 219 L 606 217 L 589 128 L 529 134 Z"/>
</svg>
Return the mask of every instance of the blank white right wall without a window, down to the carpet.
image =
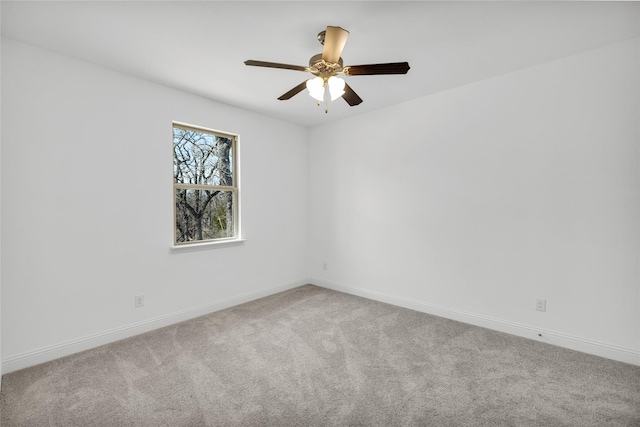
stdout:
<svg viewBox="0 0 640 427">
<path fill-rule="evenodd" d="M 312 129 L 314 283 L 640 364 L 638 47 Z"/>
</svg>

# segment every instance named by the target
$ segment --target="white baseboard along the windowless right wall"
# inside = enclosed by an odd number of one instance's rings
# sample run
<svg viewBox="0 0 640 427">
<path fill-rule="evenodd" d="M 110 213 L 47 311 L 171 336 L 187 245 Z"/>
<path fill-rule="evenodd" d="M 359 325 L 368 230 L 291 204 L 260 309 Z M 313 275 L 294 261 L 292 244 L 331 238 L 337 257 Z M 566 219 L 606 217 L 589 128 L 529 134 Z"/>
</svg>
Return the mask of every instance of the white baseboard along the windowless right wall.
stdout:
<svg viewBox="0 0 640 427">
<path fill-rule="evenodd" d="M 460 322 L 469 323 L 471 325 L 505 332 L 511 335 L 530 338 L 536 341 L 543 341 L 548 344 L 569 348 L 571 350 L 580 351 L 582 353 L 593 354 L 596 356 L 605 357 L 607 359 L 617 360 L 619 362 L 625 362 L 632 365 L 640 366 L 640 352 L 630 348 L 619 347 L 608 343 L 564 334 L 561 332 L 544 330 L 521 323 L 482 316 L 462 310 L 443 307 L 436 304 L 429 304 L 410 298 L 402 298 L 382 292 L 354 288 L 344 284 L 329 282 L 322 279 L 311 279 L 311 283 L 323 288 L 333 289 L 335 291 L 344 292 L 347 294 L 356 295 L 415 311 L 420 311 L 422 313 L 433 314 L 447 319 L 457 320 Z"/>
</svg>

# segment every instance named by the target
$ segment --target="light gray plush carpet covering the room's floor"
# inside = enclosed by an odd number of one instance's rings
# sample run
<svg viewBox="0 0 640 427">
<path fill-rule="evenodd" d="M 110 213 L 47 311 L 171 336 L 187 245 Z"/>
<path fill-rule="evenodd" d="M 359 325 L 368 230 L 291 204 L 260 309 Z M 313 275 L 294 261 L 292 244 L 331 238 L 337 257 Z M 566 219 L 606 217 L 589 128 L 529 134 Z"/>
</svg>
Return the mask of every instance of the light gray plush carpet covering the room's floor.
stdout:
<svg viewBox="0 0 640 427">
<path fill-rule="evenodd" d="M 640 426 L 640 367 L 307 285 L 3 378 L 2 426 Z"/>
</svg>

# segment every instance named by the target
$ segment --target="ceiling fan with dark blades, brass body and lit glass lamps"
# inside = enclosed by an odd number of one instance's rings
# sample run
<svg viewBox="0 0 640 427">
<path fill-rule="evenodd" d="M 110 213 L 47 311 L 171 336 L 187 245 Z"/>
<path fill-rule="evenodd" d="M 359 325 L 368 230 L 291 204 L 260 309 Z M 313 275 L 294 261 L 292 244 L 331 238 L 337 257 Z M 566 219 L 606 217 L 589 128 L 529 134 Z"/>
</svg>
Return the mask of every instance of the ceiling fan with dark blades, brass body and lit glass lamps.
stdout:
<svg viewBox="0 0 640 427">
<path fill-rule="evenodd" d="M 245 61 L 246 65 L 254 67 L 283 68 L 285 70 L 304 71 L 313 74 L 315 78 L 305 80 L 290 91 L 281 95 L 278 99 L 285 101 L 294 95 L 302 92 L 305 88 L 309 95 L 318 101 L 327 102 L 342 97 L 350 106 L 358 105 L 362 98 L 351 89 L 351 87 L 340 77 L 345 76 L 365 76 L 374 74 L 406 74 L 409 71 L 408 62 L 391 62 L 386 64 L 368 65 L 348 65 L 343 66 L 342 49 L 349 38 L 349 32 L 340 27 L 327 27 L 325 31 L 318 34 L 318 41 L 324 46 L 322 53 L 314 55 L 309 60 L 309 66 L 280 64 L 277 62 L 255 61 L 250 59 Z M 325 113 L 328 108 L 325 103 Z"/>
</svg>

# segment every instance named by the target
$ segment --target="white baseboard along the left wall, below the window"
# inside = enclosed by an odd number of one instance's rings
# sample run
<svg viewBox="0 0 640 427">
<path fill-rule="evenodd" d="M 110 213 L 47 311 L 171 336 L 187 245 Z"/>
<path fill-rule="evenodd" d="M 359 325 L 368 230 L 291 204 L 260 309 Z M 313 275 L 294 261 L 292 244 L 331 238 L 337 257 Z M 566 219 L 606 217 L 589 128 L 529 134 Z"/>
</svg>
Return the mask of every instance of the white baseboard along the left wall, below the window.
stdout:
<svg viewBox="0 0 640 427">
<path fill-rule="evenodd" d="M 80 351 L 89 350 L 104 344 L 109 344 L 121 339 L 129 338 L 154 329 L 173 325 L 185 320 L 193 319 L 225 308 L 233 307 L 238 304 L 253 301 L 258 298 L 286 291 L 288 289 L 297 288 L 309 283 L 309 279 L 299 279 L 290 283 L 272 286 L 257 291 L 248 292 L 232 298 L 216 301 L 209 304 L 203 304 L 198 307 L 187 310 L 178 311 L 166 316 L 145 320 L 143 322 L 134 323 L 116 329 L 111 329 L 101 333 L 89 335 L 76 340 L 62 342 L 53 346 L 39 348 L 37 350 L 28 351 L 14 356 L 2 359 L 2 374 L 28 368 L 29 366 L 39 365 L 49 362 L 60 357 L 68 356 Z"/>
</svg>

